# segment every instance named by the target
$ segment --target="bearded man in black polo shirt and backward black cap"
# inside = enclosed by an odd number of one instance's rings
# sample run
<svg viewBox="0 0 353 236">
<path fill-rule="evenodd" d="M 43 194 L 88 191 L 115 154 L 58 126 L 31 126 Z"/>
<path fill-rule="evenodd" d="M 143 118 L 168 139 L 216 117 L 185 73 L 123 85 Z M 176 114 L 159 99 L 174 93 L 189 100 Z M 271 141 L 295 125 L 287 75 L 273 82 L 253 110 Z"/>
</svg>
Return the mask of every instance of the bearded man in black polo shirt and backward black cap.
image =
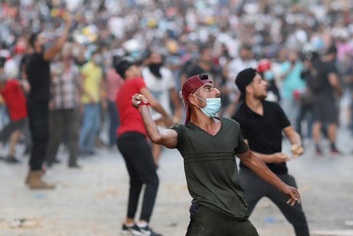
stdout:
<svg viewBox="0 0 353 236">
<path fill-rule="evenodd" d="M 235 84 L 241 92 L 240 99 L 244 101 L 232 119 L 240 124 L 245 142 L 284 183 L 296 187 L 293 176 L 288 175 L 286 161 L 303 153 L 300 135 L 294 131 L 277 103 L 264 100 L 267 96 L 267 82 L 255 69 L 249 68 L 239 72 Z M 293 157 L 282 153 L 282 131 L 293 145 Z M 249 215 L 256 203 L 263 196 L 267 196 L 293 224 L 297 236 L 309 236 L 301 205 L 288 206 L 286 196 L 259 178 L 243 161 L 240 163 L 239 180 L 245 192 Z"/>
</svg>

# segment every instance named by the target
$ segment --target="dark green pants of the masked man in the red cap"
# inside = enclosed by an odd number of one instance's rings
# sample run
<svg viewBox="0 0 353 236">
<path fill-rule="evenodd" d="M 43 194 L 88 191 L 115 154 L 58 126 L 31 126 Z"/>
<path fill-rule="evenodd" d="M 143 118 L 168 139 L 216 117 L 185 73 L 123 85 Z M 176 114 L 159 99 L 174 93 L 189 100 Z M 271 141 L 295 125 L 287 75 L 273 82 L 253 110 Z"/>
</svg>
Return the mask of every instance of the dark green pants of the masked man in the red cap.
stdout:
<svg viewBox="0 0 353 236">
<path fill-rule="evenodd" d="M 258 236 L 247 219 L 233 220 L 201 206 L 191 217 L 186 236 Z"/>
</svg>

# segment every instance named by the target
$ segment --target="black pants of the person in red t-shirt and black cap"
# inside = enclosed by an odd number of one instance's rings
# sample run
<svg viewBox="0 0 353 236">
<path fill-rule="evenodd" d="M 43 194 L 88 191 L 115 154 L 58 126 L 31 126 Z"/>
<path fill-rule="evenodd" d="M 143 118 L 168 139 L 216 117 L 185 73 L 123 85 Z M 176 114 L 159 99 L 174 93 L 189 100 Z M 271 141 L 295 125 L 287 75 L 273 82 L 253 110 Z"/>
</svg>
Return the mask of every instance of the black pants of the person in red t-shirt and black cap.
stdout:
<svg viewBox="0 0 353 236">
<path fill-rule="evenodd" d="M 149 222 L 158 190 L 158 176 L 151 148 L 139 132 L 125 132 L 118 137 L 118 147 L 130 175 L 127 217 L 134 218 L 142 184 L 146 184 L 140 220 Z"/>
</svg>

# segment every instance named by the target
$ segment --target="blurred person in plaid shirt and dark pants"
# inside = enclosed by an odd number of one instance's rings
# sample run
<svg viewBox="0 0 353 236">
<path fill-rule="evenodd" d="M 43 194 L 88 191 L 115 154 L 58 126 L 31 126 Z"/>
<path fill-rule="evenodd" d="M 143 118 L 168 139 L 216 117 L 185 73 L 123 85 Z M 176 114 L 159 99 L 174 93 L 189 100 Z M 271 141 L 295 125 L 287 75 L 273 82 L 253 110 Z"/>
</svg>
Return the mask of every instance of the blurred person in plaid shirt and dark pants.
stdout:
<svg viewBox="0 0 353 236">
<path fill-rule="evenodd" d="M 56 154 L 59 144 L 67 133 L 67 145 L 70 153 L 68 166 L 77 165 L 78 132 L 80 128 L 79 103 L 80 103 L 80 74 L 74 64 L 71 46 L 66 45 L 60 60 L 50 65 L 52 93 L 49 107 L 51 110 L 52 132 L 47 153 L 47 165 L 51 167 L 58 163 Z"/>
</svg>

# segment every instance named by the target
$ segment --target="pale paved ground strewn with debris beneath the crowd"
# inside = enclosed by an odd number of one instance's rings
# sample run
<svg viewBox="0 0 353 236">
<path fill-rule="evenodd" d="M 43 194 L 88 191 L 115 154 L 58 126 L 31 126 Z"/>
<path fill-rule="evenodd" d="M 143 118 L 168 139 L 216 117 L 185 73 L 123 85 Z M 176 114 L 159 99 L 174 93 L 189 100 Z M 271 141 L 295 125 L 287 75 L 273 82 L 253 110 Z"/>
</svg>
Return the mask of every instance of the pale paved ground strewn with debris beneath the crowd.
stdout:
<svg viewBox="0 0 353 236">
<path fill-rule="evenodd" d="M 325 142 L 324 142 L 325 143 Z M 340 132 L 342 157 L 306 154 L 290 161 L 303 200 L 310 230 L 347 230 L 353 235 L 352 138 Z M 285 142 L 285 150 L 289 145 Z M 327 150 L 325 150 L 327 151 Z M 98 149 L 95 157 L 80 160 L 82 170 L 55 166 L 45 179 L 55 190 L 29 190 L 23 181 L 25 163 L 0 162 L 0 236 L 117 236 L 126 211 L 128 177 L 117 151 Z M 60 158 L 66 160 L 61 151 Z M 25 162 L 26 159 L 23 159 Z M 165 149 L 158 170 L 160 189 L 151 226 L 164 236 L 185 235 L 191 197 L 186 188 L 183 160 Z M 14 219 L 28 219 L 26 227 L 11 228 Z M 250 220 L 262 236 L 293 236 L 292 226 L 268 199 L 262 199 Z M 338 235 L 338 234 L 336 234 Z"/>
</svg>

